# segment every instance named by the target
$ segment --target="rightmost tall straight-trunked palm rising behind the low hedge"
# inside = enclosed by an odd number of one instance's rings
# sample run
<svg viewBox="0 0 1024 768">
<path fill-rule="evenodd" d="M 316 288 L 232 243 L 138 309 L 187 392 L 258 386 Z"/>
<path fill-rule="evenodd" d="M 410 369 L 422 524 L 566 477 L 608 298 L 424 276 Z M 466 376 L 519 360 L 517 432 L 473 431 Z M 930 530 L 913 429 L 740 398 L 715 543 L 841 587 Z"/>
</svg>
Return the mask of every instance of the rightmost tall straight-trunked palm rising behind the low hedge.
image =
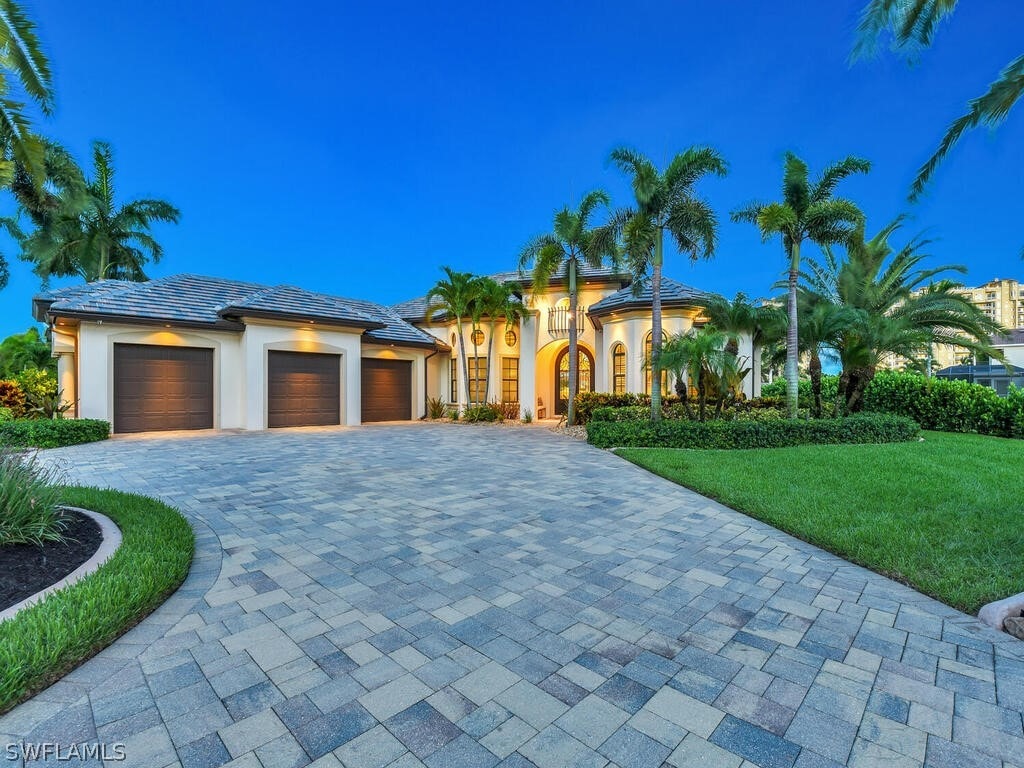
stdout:
<svg viewBox="0 0 1024 768">
<path fill-rule="evenodd" d="M 733 211 L 733 221 L 757 224 L 761 238 L 767 242 L 778 234 L 790 262 L 786 312 L 790 325 L 785 337 L 785 394 L 791 419 L 797 418 L 800 357 L 799 318 L 797 316 L 797 286 L 800 278 L 800 255 L 805 240 L 819 246 L 841 243 L 849 239 L 863 221 L 863 214 L 849 200 L 833 197 L 840 181 L 854 173 L 866 173 L 866 160 L 848 157 L 835 163 L 811 181 L 804 163 L 793 153 L 785 155 L 782 175 L 782 200 L 776 203 L 753 203 Z"/>
</svg>

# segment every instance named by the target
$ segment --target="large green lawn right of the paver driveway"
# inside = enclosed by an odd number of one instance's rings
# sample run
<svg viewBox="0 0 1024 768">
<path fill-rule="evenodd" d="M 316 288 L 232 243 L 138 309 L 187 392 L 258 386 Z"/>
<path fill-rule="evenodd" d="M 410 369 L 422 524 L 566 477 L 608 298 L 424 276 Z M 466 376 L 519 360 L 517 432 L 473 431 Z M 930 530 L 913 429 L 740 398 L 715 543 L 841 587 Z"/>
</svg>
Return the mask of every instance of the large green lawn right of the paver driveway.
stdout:
<svg viewBox="0 0 1024 768">
<path fill-rule="evenodd" d="M 969 613 L 1024 592 L 1024 440 L 617 453 Z"/>
</svg>

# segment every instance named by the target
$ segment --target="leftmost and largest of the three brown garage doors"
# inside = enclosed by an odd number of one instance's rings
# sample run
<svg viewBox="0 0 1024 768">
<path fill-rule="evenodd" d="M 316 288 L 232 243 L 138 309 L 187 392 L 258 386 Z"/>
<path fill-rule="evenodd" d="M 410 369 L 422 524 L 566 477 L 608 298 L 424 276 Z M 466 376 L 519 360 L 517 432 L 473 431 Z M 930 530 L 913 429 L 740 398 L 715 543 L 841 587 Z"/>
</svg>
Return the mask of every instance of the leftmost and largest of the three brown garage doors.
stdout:
<svg viewBox="0 0 1024 768">
<path fill-rule="evenodd" d="M 114 431 L 213 428 L 213 350 L 114 345 Z"/>
</svg>

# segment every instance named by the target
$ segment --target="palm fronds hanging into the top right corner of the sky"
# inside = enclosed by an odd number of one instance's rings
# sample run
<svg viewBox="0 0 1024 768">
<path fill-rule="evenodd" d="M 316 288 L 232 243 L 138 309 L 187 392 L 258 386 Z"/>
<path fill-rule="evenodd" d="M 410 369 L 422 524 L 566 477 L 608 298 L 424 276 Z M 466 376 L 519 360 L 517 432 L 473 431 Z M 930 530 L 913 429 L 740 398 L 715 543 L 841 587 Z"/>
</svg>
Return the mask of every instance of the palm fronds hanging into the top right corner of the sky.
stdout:
<svg viewBox="0 0 1024 768">
<path fill-rule="evenodd" d="M 956 0 L 870 0 L 860 16 L 854 57 L 872 55 L 888 31 L 898 51 L 916 53 L 932 44 L 939 23 L 956 8 Z M 1024 55 L 1004 68 L 988 90 L 968 102 L 967 112 L 956 118 L 939 141 L 938 148 L 921 168 L 910 187 L 916 200 L 942 160 L 967 131 L 980 125 L 1002 123 L 1024 94 Z"/>
</svg>

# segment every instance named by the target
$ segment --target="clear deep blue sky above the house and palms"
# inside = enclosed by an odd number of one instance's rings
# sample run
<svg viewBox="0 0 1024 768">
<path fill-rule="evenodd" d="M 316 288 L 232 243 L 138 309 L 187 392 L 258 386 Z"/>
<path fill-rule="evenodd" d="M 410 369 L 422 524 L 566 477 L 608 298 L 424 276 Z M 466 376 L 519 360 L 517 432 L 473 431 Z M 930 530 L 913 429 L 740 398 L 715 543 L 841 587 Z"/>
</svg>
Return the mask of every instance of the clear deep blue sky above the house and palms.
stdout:
<svg viewBox="0 0 1024 768">
<path fill-rule="evenodd" d="M 905 202 L 944 127 L 1020 53 L 1024 6 L 964 3 L 915 66 L 851 66 L 863 2 L 29 5 L 56 76 L 44 131 L 82 160 L 91 139 L 111 141 L 120 195 L 182 210 L 157 230 L 167 255 L 155 276 L 395 302 L 422 295 L 441 264 L 512 268 L 591 188 L 628 203 L 605 163 L 614 146 L 664 164 L 710 143 L 731 166 L 703 184 L 718 255 L 670 256 L 678 280 L 769 293 L 779 246 L 728 212 L 777 195 L 786 150 L 815 169 L 871 160 L 844 188 L 870 229 L 907 212 L 907 237 L 937 239 L 936 264 L 966 264 L 972 283 L 1024 278 L 1024 109 L 969 135 L 926 199 Z M 0 336 L 29 325 L 38 289 L 26 264 L 11 271 Z"/>
</svg>

